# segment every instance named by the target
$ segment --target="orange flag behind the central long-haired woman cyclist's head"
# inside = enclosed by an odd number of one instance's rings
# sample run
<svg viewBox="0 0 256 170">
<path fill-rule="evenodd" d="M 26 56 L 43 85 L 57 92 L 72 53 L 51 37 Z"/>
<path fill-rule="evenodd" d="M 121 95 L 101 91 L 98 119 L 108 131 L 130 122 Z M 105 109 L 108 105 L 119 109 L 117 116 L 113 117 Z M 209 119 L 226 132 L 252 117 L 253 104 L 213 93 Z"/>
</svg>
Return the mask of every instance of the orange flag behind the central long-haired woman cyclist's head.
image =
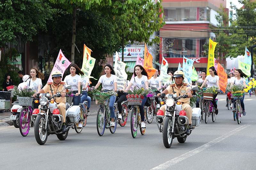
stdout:
<svg viewBox="0 0 256 170">
<path fill-rule="evenodd" d="M 145 51 L 144 51 L 144 69 L 147 71 L 148 73 L 148 80 L 154 76 L 156 69 L 153 67 L 153 63 L 152 63 L 153 57 L 151 54 L 149 54 L 148 52 L 148 48 L 146 46 L 145 43 Z"/>
</svg>

